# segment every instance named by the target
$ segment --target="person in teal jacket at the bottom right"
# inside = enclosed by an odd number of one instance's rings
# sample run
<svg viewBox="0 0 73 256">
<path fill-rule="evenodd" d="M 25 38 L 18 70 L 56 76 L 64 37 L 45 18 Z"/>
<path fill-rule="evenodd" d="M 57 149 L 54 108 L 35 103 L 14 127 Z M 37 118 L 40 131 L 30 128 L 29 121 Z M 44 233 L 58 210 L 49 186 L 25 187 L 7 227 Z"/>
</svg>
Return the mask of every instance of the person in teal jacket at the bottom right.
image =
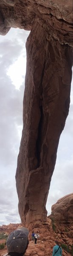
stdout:
<svg viewBox="0 0 73 256">
<path fill-rule="evenodd" d="M 60 243 L 56 241 L 56 245 L 53 247 L 53 255 L 52 256 L 62 256 L 62 247 Z"/>
</svg>

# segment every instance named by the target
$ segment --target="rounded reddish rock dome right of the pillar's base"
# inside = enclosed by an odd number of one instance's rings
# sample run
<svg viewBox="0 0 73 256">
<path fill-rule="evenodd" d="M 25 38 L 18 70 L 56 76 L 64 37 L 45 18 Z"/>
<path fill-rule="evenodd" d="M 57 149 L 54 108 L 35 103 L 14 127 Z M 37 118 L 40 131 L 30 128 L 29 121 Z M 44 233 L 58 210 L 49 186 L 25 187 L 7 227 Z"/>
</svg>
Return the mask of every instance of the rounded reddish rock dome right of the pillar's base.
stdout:
<svg viewBox="0 0 73 256">
<path fill-rule="evenodd" d="M 51 207 L 51 219 L 61 224 L 73 225 L 73 193 L 65 195 Z"/>
</svg>

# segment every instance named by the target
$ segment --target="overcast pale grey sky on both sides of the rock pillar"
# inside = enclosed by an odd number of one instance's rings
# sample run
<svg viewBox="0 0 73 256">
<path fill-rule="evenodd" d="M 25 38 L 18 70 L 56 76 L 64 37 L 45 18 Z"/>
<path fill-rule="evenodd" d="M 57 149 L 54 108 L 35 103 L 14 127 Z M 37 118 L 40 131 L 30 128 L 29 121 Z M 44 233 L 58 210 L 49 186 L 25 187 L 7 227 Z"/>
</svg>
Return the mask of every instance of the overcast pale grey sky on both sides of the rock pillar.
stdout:
<svg viewBox="0 0 73 256">
<path fill-rule="evenodd" d="M 19 223 L 15 185 L 17 156 L 22 134 L 22 101 L 25 87 L 29 32 L 11 29 L 0 35 L 0 225 Z M 73 83 L 73 82 L 72 82 Z M 73 192 L 73 84 L 70 111 L 60 137 L 55 170 L 47 201 L 48 215 L 56 201 Z"/>
</svg>

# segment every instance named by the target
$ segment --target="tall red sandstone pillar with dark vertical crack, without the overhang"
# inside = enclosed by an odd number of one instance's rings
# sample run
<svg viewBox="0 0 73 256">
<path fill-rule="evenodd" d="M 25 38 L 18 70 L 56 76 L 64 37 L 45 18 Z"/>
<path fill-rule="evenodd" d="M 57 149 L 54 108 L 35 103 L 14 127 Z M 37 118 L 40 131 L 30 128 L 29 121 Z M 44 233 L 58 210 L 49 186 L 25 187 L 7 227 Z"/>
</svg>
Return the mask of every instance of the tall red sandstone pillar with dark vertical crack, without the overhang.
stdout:
<svg viewBox="0 0 73 256">
<path fill-rule="evenodd" d="M 35 23 L 26 42 L 23 130 L 16 185 L 23 224 L 46 221 L 59 137 L 70 105 L 72 49 Z"/>
</svg>

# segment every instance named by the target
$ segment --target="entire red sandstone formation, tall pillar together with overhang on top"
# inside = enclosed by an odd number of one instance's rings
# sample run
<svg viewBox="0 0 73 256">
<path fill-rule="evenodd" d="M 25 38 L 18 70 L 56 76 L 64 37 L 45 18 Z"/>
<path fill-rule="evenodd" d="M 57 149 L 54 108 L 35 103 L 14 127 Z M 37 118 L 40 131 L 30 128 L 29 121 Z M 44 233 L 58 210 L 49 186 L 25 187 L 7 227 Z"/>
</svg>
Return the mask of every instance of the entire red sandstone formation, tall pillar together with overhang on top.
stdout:
<svg viewBox="0 0 73 256">
<path fill-rule="evenodd" d="M 72 0 L 0 0 L 0 34 L 31 29 L 16 185 L 23 224 L 46 221 L 59 137 L 70 105 Z"/>
</svg>

